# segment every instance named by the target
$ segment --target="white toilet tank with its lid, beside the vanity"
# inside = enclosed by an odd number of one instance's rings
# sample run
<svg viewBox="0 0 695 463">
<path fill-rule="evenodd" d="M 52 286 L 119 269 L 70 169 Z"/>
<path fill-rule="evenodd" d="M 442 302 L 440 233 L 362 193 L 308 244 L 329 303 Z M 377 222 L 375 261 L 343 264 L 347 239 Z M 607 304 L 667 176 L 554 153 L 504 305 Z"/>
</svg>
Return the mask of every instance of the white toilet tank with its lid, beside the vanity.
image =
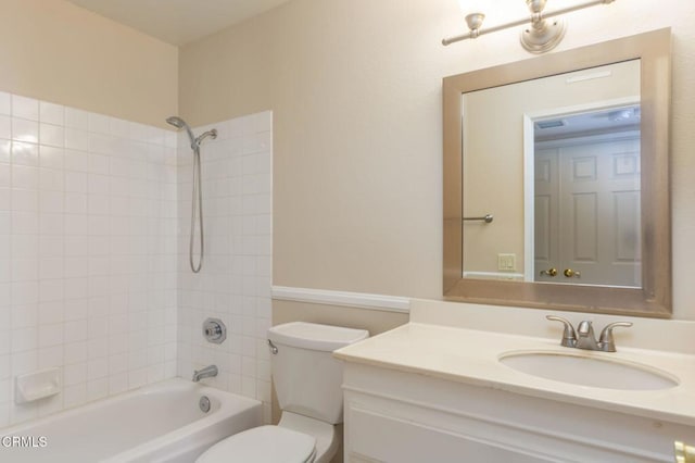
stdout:
<svg viewBox="0 0 695 463">
<path fill-rule="evenodd" d="M 369 336 L 365 329 L 292 322 L 268 329 L 273 381 L 282 411 L 330 424 L 343 421 L 342 362 L 336 349 Z"/>
</svg>

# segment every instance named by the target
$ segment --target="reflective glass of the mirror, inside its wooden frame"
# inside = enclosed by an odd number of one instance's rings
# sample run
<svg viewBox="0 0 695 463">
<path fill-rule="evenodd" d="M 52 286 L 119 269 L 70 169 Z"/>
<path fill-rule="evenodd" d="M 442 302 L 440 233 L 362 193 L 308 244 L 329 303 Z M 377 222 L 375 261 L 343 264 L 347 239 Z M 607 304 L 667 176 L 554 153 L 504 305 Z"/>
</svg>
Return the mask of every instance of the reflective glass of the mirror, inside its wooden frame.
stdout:
<svg viewBox="0 0 695 463">
<path fill-rule="evenodd" d="M 640 60 L 462 104 L 463 276 L 641 287 Z"/>
</svg>

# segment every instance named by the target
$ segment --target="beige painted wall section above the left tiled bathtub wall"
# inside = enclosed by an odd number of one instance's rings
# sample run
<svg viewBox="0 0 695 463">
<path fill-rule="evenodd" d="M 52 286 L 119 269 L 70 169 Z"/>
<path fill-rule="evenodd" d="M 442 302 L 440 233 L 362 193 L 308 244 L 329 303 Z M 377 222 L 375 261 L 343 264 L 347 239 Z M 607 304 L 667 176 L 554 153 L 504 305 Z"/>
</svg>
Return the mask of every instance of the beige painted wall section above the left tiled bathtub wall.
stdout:
<svg viewBox="0 0 695 463">
<path fill-rule="evenodd" d="M 64 0 L 0 0 L 0 90 L 164 126 L 178 49 Z"/>
</svg>

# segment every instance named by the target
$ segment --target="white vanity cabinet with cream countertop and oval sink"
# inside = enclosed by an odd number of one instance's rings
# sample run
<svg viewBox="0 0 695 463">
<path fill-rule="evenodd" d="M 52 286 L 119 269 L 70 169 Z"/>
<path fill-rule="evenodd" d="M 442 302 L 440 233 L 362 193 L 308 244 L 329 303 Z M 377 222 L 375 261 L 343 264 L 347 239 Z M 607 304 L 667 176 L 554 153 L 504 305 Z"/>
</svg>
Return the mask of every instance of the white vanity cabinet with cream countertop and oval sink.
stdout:
<svg viewBox="0 0 695 463">
<path fill-rule="evenodd" d="M 552 314 L 413 301 L 407 325 L 337 351 L 345 461 L 673 462 L 695 441 L 695 323 L 566 314 L 634 323 L 601 352 L 560 346 Z"/>
</svg>

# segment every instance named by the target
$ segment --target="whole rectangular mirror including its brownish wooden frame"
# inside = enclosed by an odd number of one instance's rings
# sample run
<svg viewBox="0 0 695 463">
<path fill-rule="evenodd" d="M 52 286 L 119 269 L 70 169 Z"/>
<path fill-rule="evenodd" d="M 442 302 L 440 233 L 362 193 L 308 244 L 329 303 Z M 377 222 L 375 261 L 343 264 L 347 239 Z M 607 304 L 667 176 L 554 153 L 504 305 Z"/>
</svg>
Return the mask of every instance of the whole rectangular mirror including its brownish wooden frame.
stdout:
<svg viewBox="0 0 695 463">
<path fill-rule="evenodd" d="M 444 297 L 671 313 L 670 29 L 444 78 Z"/>
</svg>

